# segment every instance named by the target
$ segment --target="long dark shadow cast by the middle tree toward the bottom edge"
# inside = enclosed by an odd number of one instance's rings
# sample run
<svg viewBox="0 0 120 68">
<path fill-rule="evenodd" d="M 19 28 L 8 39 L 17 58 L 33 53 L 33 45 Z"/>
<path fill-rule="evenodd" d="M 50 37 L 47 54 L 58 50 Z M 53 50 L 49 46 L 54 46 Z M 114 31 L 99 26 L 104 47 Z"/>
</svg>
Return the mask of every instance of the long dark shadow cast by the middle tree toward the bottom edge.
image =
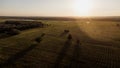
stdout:
<svg viewBox="0 0 120 68">
<path fill-rule="evenodd" d="M 61 49 L 56 61 L 55 61 L 55 64 L 54 64 L 54 68 L 59 68 L 60 67 L 60 63 L 62 62 L 64 56 L 66 55 L 66 52 L 68 51 L 70 45 L 71 45 L 71 42 L 72 40 L 68 39 L 63 48 Z"/>
</svg>

